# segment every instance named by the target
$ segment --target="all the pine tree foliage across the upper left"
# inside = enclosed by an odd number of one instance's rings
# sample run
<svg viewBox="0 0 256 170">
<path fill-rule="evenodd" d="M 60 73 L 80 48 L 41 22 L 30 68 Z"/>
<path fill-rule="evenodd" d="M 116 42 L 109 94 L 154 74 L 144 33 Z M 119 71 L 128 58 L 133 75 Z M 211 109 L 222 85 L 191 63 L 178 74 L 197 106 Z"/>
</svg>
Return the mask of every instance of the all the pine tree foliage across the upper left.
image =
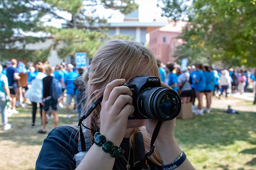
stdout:
<svg viewBox="0 0 256 170">
<path fill-rule="evenodd" d="M 92 57 L 104 40 L 110 39 L 103 28 L 89 30 L 90 26 L 107 26 L 107 18 L 94 12 L 95 6 L 119 10 L 123 14 L 134 11 L 138 6 L 134 0 L 0 0 L 0 57 L 17 58 L 37 62 L 47 60 L 50 49 L 58 49 L 61 58 L 73 56 L 76 52 L 86 52 Z M 71 15 L 71 20 L 59 11 Z M 45 18 L 47 16 L 47 20 Z M 44 19 L 44 20 L 42 20 Z M 44 22 L 62 19 L 66 28 L 44 27 Z M 41 37 L 27 36 L 26 33 L 41 33 Z M 28 43 L 44 41 L 52 37 L 52 47 L 41 50 L 26 50 Z M 123 36 L 131 39 L 131 37 Z M 64 43 L 63 48 L 57 48 Z"/>
</svg>

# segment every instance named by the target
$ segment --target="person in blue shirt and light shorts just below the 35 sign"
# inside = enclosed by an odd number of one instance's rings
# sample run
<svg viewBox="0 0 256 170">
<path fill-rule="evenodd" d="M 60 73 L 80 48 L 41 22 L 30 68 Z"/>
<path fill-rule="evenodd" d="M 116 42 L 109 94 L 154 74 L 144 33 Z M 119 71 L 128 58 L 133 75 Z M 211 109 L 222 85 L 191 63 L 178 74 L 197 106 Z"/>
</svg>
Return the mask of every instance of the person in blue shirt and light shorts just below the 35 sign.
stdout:
<svg viewBox="0 0 256 170">
<path fill-rule="evenodd" d="M 67 94 L 67 98 L 66 98 L 66 109 L 67 109 L 67 118 L 71 118 L 70 115 L 70 104 L 72 102 L 72 98 L 74 98 L 75 100 L 75 104 L 76 104 L 76 96 L 75 96 L 75 85 L 74 85 L 74 79 L 76 77 L 79 77 L 79 74 L 77 74 L 76 72 L 73 71 L 74 66 L 72 64 L 68 64 L 67 65 L 67 77 L 64 80 L 64 83 L 66 85 L 66 94 Z"/>
</svg>

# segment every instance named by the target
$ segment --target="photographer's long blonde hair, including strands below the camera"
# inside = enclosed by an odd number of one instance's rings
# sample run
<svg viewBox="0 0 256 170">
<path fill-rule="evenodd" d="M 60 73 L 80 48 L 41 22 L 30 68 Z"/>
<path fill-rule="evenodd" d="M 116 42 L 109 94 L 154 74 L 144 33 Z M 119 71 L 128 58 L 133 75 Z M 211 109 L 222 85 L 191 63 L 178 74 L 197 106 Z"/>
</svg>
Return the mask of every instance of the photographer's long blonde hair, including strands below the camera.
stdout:
<svg viewBox="0 0 256 170">
<path fill-rule="evenodd" d="M 132 76 L 137 74 L 136 71 L 141 68 L 141 65 L 145 65 L 145 68 L 140 72 L 141 75 L 153 69 L 154 76 L 159 77 L 156 59 L 152 52 L 140 42 L 127 40 L 111 40 L 106 42 L 93 58 L 88 70 L 89 76 L 87 77 L 86 73 L 83 75 L 85 83 L 88 81 L 86 86 L 87 104 L 84 107 L 90 108 L 93 102 L 103 95 L 106 85 L 114 79 L 128 80 L 133 78 Z M 99 130 L 98 116 L 100 107 L 98 105 L 90 117 L 84 120 L 87 126 L 94 130 Z M 87 110 L 85 108 L 82 110 Z M 131 134 L 131 146 L 134 134 L 139 130 L 139 128 L 135 128 L 134 133 Z M 141 130 L 141 132 L 145 140 L 146 151 L 149 151 L 150 135 L 145 130 Z M 90 137 L 93 137 L 92 134 L 90 134 Z M 158 165 L 162 162 L 159 161 L 161 158 L 157 152 L 154 152 L 149 159 Z"/>
</svg>

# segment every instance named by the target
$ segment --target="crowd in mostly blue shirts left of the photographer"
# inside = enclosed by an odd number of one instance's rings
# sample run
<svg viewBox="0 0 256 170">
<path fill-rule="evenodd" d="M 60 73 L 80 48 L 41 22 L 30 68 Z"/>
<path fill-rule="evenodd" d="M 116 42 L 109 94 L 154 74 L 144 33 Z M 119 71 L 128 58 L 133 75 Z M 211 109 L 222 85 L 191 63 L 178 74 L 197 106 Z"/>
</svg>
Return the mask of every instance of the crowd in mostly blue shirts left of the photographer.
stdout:
<svg viewBox="0 0 256 170">
<path fill-rule="evenodd" d="M 0 106 L 3 130 L 12 127 L 8 124 L 8 117 L 19 113 L 16 107 L 26 108 L 27 104 L 32 105 L 32 128 L 35 127 L 37 109 L 40 109 L 42 129 L 38 133 L 46 133 L 47 119 L 53 119 L 54 126 L 58 126 L 57 109 L 64 105 L 67 109 L 67 118 L 71 118 L 70 104 L 73 99 L 75 103 L 73 111 L 77 111 L 79 98 L 76 98 L 76 94 L 81 93 L 81 88 L 77 87 L 78 83 L 74 83 L 74 80 L 83 74 L 84 69 L 86 67 L 78 68 L 77 73 L 73 65 L 66 65 L 64 62 L 52 67 L 48 62 L 25 65 L 21 61 L 17 62 L 16 59 L 6 62 L 4 66 L 1 65 Z M 62 93 L 58 99 L 53 99 L 51 95 L 53 79 L 61 85 Z M 64 96 L 66 96 L 65 101 L 63 101 Z M 79 116 L 80 113 L 81 108 Z"/>
</svg>

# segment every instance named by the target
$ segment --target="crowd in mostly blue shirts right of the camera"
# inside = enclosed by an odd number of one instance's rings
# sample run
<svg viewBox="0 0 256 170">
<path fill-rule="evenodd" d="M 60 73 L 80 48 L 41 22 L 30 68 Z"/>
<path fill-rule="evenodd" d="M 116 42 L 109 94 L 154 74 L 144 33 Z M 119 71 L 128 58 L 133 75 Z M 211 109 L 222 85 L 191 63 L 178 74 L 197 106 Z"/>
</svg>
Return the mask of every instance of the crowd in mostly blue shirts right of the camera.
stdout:
<svg viewBox="0 0 256 170">
<path fill-rule="evenodd" d="M 181 68 L 177 63 L 164 65 L 157 61 L 162 81 L 180 94 L 183 103 L 192 102 L 192 112 L 204 115 L 204 111 L 211 112 L 212 96 L 221 99 L 225 95 L 247 91 L 250 82 L 253 82 L 253 94 L 256 93 L 256 72 L 242 71 L 230 68 L 228 70 L 213 69 L 210 66 L 196 64 Z M 206 107 L 203 108 L 203 95 L 206 98 Z M 195 99 L 198 106 L 195 108 Z M 256 101 L 253 102 L 256 104 Z"/>
</svg>

